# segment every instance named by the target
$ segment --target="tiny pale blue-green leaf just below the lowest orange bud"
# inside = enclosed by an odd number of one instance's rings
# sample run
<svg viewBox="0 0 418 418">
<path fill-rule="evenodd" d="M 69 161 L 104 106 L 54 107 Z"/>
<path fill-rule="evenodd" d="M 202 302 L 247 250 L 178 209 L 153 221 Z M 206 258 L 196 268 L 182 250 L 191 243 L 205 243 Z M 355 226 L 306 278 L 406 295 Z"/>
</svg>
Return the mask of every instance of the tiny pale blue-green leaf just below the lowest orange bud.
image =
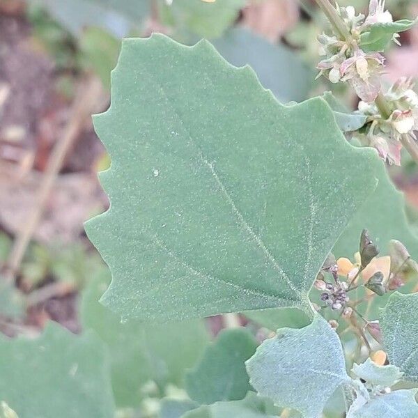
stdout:
<svg viewBox="0 0 418 418">
<path fill-rule="evenodd" d="M 362 364 L 354 364 L 353 373 L 369 385 L 376 385 L 382 387 L 392 387 L 403 376 L 403 373 L 398 367 L 389 364 L 388 366 L 379 366 L 370 358 Z"/>
</svg>

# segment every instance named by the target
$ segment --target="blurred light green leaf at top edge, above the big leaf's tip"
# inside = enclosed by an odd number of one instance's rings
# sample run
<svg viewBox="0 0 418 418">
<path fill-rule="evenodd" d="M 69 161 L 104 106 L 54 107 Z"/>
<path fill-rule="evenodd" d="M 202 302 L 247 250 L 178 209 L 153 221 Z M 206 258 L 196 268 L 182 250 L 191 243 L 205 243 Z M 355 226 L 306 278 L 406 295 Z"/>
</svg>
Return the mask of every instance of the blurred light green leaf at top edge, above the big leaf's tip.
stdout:
<svg viewBox="0 0 418 418">
<path fill-rule="evenodd" d="M 162 23 L 171 26 L 174 36 L 182 40 L 191 34 L 203 38 L 217 38 L 235 22 L 245 0 L 222 0 L 215 3 L 194 0 L 174 0 L 169 6 L 157 0 Z"/>
</svg>

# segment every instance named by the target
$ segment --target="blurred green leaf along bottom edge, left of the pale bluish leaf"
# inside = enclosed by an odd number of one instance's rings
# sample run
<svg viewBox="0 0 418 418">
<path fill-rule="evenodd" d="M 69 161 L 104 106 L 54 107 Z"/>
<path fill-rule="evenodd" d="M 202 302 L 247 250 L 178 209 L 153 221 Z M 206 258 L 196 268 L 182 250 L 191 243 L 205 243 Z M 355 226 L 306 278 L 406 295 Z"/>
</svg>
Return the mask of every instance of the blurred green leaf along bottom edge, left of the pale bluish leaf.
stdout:
<svg viewBox="0 0 418 418">
<path fill-rule="evenodd" d="M 182 418 L 277 418 L 272 402 L 249 392 L 241 401 L 217 402 L 186 412 Z"/>
</svg>

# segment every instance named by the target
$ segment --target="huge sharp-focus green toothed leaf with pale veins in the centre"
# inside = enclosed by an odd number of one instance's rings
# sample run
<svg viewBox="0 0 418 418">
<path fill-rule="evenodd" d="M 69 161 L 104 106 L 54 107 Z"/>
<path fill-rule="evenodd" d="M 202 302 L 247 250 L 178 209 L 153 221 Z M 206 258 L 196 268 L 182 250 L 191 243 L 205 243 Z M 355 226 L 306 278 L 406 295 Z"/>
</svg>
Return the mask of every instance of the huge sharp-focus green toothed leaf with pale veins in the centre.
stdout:
<svg viewBox="0 0 418 418">
<path fill-rule="evenodd" d="M 123 42 L 110 109 L 111 208 L 86 224 L 123 319 L 164 321 L 297 307 L 376 187 L 320 98 L 284 107 L 212 45 Z M 355 170 L 353 169 L 355 167 Z"/>
</svg>

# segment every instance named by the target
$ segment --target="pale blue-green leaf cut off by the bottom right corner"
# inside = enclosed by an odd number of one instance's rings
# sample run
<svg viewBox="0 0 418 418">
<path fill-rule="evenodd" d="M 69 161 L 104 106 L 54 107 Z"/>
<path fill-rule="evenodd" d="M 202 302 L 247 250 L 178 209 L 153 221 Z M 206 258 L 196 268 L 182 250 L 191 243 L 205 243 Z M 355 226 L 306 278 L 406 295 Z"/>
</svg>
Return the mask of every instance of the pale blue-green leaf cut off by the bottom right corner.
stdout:
<svg viewBox="0 0 418 418">
<path fill-rule="evenodd" d="M 390 394 L 376 396 L 360 408 L 348 412 L 347 418 L 417 418 L 417 390 L 396 390 Z"/>
</svg>

